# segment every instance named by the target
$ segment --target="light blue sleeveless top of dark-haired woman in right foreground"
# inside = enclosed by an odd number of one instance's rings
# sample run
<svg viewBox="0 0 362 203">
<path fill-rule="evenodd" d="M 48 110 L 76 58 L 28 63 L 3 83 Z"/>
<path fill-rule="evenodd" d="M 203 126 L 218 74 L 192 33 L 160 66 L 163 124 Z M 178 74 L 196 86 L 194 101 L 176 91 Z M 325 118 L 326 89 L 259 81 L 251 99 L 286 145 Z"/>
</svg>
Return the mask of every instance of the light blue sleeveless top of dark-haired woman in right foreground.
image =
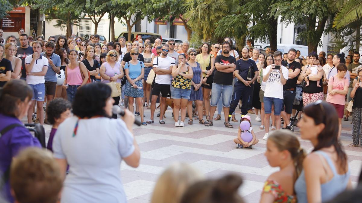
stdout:
<svg viewBox="0 0 362 203">
<path fill-rule="evenodd" d="M 320 154 L 327 161 L 329 167 L 333 172 L 333 178 L 328 182 L 323 183 L 321 187 L 321 199 L 322 202 L 326 202 L 328 200 L 333 199 L 342 191 L 347 188 L 347 184 L 350 177 L 350 168 L 348 167 L 348 171 L 345 174 L 338 174 L 336 167 L 334 167 L 333 161 L 324 151 L 316 151 L 317 154 Z M 304 170 L 298 177 L 294 185 L 294 191 L 296 193 L 296 198 L 298 203 L 307 203 L 307 187 L 306 187 L 306 178 L 304 174 Z"/>
</svg>

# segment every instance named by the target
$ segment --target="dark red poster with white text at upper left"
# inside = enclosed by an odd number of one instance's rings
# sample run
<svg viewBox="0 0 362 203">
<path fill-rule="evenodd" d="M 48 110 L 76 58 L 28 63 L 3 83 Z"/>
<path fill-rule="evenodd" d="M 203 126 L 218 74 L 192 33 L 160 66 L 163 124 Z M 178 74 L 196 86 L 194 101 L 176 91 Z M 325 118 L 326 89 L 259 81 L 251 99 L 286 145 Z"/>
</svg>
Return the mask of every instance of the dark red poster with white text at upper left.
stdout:
<svg viewBox="0 0 362 203">
<path fill-rule="evenodd" d="M 0 20 L 0 29 L 4 32 L 18 32 L 25 27 L 25 7 L 14 8 Z"/>
</svg>

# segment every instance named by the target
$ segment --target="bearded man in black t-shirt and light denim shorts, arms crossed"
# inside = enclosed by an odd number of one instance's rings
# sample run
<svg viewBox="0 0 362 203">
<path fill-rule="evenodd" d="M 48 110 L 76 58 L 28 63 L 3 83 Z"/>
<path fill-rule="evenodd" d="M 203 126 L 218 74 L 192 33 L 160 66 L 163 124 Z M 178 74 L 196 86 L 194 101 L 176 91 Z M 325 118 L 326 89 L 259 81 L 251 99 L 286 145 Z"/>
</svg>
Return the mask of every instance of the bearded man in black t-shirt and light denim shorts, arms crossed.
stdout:
<svg viewBox="0 0 362 203">
<path fill-rule="evenodd" d="M 211 89 L 211 108 L 210 108 L 210 120 L 205 126 L 211 126 L 214 119 L 214 113 L 216 106 L 218 105 L 220 96 L 222 96 L 223 110 L 225 115 L 225 126 L 233 128 L 228 120 L 228 113 L 230 108 L 230 97 L 232 94 L 232 78 L 233 72 L 236 68 L 236 59 L 230 55 L 230 43 L 222 43 L 222 54 L 216 56 L 215 59 L 215 74 L 214 82 L 212 83 Z"/>
</svg>

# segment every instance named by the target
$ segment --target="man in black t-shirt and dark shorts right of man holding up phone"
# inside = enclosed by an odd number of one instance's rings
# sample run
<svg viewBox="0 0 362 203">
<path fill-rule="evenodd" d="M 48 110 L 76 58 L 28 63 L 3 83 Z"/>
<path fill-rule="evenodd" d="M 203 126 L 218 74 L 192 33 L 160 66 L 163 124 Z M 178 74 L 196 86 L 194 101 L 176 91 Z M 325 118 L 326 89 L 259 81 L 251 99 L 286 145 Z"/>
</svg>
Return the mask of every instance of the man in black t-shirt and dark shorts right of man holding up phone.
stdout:
<svg viewBox="0 0 362 203">
<path fill-rule="evenodd" d="M 284 120 L 283 129 L 290 129 L 294 132 L 293 124 L 290 120 L 290 115 L 293 109 L 293 102 L 295 99 L 296 93 L 296 82 L 298 81 L 298 76 L 300 74 L 300 63 L 294 61 L 296 56 L 296 50 L 291 48 L 288 51 L 288 58 L 286 61 L 282 61 L 282 65 L 289 69 L 288 80 L 283 85 L 283 106 L 281 116 Z"/>
</svg>

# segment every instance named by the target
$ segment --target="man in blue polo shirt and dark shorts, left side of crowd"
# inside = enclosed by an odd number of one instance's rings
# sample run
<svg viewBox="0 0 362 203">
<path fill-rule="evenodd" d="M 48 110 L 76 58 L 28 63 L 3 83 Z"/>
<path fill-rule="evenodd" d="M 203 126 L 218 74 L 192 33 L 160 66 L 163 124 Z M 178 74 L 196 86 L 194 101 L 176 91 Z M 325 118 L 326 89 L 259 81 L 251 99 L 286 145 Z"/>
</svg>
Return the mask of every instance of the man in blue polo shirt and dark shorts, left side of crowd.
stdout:
<svg viewBox="0 0 362 203">
<path fill-rule="evenodd" d="M 46 96 L 46 108 L 48 103 L 54 99 L 55 88 L 56 88 L 56 75 L 60 73 L 60 56 L 54 53 L 54 43 L 47 42 L 45 44 L 45 52 L 42 52 L 41 55 L 46 57 L 49 62 L 48 71 L 45 74 L 45 96 Z M 45 115 L 45 124 L 50 124 L 48 122 L 47 116 Z"/>
</svg>

